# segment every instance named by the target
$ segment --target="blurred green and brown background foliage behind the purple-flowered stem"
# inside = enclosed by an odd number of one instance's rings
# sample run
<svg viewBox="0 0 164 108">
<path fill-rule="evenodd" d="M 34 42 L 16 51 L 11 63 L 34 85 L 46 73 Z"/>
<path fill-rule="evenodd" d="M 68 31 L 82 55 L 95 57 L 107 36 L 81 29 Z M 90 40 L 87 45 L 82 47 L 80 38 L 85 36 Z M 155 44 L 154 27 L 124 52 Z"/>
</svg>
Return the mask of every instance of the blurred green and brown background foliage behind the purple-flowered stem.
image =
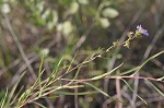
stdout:
<svg viewBox="0 0 164 108">
<path fill-rule="evenodd" d="M 124 35 L 134 29 L 138 24 L 143 24 L 149 29 L 150 37 L 133 41 L 130 50 L 116 49 L 92 61 L 89 65 L 84 65 L 78 77 L 87 79 L 103 74 L 122 61 L 126 64 L 121 71 L 140 64 L 147 48 L 164 24 L 163 5 L 163 0 L 0 0 L 0 82 L 4 82 L 0 84 L 0 98 L 5 96 L 5 88 L 11 91 L 16 77 L 24 71 L 27 73 L 17 85 L 16 92 L 22 86 L 25 91 L 34 83 L 22 52 L 17 48 L 20 46 L 12 37 L 13 34 L 21 43 L 35 74 L 38 74 L 42 55 L 46 53 L 44 62 L 46 72 L 43 76 L 46 79 L 56 68 L 60 69 L 58 74 L 63 74 L 74 55 L 77 57 L 72 67 L 85 58 L 102 52 L 112 46 L 113 41 L 121 40 Z M 7 21 L 7 17 L 10 22 Z M 9 29 L 7 23 L 11 23 L 14 33 Z M 163 50 L 163 33 L 160 34 L 161 37 L 153 45 L 150 55 Z M 58 65 L 61 58 L 63 62 Z M 150 62 L 141 74 L 160 77 L 164 75 L 163 64 L 164 57 L 162 56 Z M 68 77 L 73 77 L 74 74 Z M 104 83 L 103 80 L 95 81 L 93 85 L 104 89 Z M 116 94 L 115 82 L 112 81 L 112 85 L 114 86 L 109 86 L 108 94 L 114 96 Z M 150 87 L 144 89 L 142 84 L 140 86 L 142 95 L 144 92 L 151 94 Z M 162 84 L 156 84 L 156 86 L 164 89 Z M 92 91 L 90 86 L 79 91 L 87 89 Z M 63 105 L 67 105 L 67 101 L 72 103 L 66 97 Z M 84 108 L 95 108 L 96 105 L 102 106 L 105 99 L 99 94 L 91 94 L 80 96 L 79 104 Z M 50 100 L 56 104 L 59 98 Z M 115 103 L 112 103 L 113 105 Z M 157 106 L 157 103 L 155 105 Z M 155 105 L 150 104 L 151 107 Z"/>
</svg>

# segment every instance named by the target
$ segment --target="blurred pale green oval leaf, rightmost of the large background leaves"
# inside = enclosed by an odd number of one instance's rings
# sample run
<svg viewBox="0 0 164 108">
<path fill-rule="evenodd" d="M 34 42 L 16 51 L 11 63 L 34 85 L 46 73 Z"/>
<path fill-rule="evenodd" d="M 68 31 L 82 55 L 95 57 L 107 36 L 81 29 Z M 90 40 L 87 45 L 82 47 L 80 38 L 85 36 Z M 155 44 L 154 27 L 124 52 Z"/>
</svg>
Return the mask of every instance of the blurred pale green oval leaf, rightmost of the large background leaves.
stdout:
<svg viewBox="0 0 164 108">
<path fill-rule="evenodd" d="M 118 16 L 118 11 L 113 8 L 106 8 L 102 12 L 103 16 L 114 19 Z"/>
</svg>

